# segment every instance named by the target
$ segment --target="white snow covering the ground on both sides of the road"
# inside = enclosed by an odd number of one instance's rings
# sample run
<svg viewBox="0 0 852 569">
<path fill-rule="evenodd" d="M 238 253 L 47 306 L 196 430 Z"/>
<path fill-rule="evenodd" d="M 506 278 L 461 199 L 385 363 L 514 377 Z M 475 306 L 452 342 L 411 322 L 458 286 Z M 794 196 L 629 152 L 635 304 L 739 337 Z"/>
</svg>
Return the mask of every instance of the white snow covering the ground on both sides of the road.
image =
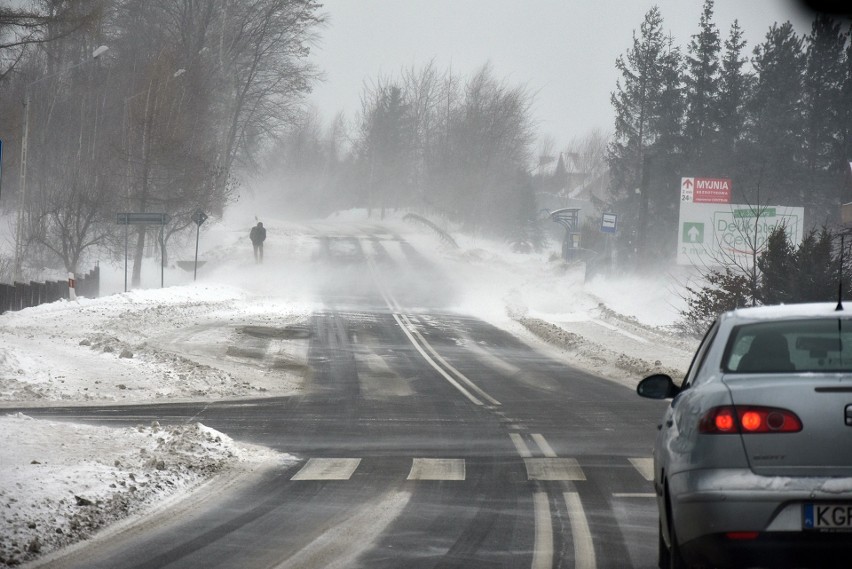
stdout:
<svg viewBox="0 0 852 569">
<path fill-rule="evenodd" d="M 166 288 L 158 288 L 152 264 L 145 267 L 148 288 L 125 293 L 123 266 L 103 264 L 101 298 L 0 316 L 0 566 L 86 538 L 165 498 L 180 500 L 211 477 L 291 459 L 197 423 L 118 430 L 11 411 L 298 393 L 307 355 L 298 333 L 261 354 L 283 362 L 274 374 L 253 366 L 257 354 L 229 348 L 251 351 L 259 327 L 298 331 L 322 308 L 315 292 L 322 277 L 311 266 L 315 235 L 357 235 L 379 224 L 363 211 L 312 223 L 265 218 L 266 261 L 255 265 L 248 211 L 208 222 L 197 282 L 191 271 L 167 268 Z M 632 387 L 651 370 L 679 373 L 689 363 L 695 340 L 670 328 L 680 303 L 673 277 L 584 283 L 581 272 L 551 260 L 552 252 L 516 254 L 464 235 L 454 235 L 454 249 L 401 216 L 382 227 L 403 235 L 457 284 L 454 310 L 572 365 Z"/>
</svg>

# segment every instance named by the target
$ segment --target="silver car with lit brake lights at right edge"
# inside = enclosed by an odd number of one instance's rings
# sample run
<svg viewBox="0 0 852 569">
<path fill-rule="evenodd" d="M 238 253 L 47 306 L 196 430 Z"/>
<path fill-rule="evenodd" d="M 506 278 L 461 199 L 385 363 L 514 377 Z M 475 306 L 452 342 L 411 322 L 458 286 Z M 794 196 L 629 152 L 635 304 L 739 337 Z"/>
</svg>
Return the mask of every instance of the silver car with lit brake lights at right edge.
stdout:
<svg viewBox="0 0 852 569">
<path fill-rule="evenodd" d="M 852 306 L 728 312 L 702 340 L 654 448 L 659 566 L 852 567 Z"/>
</svg>

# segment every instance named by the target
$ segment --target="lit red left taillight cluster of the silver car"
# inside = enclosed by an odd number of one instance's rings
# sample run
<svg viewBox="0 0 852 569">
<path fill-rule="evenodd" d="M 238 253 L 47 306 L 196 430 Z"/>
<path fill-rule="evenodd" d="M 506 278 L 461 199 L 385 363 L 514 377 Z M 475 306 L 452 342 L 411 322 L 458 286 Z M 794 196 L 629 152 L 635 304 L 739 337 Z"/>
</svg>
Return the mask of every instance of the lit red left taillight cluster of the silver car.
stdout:
<svg viewBox="0 0 852 569">
<path fill-rule="evenodd" d="M 724 405 L 707 411 L 698 432 L 708 435 L 798 433 L 802 421 L 792 411 L 775 407 Z"/>
</svg>

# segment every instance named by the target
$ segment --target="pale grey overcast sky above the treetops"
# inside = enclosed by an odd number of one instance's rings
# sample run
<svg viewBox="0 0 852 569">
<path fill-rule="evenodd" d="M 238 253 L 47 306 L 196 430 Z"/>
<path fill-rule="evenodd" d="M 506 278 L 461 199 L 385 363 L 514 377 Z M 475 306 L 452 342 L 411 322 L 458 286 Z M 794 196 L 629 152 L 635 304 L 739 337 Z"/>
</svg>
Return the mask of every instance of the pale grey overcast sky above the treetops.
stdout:
<svg viewBox="0 0 852 569">
<path fill-rule="evenodd" d="M 562 148 L 592 129 L 611 131 L 615 59 L 631 45 L 648 9 L 683 50 L 698 31 L 703 0 L 321 0 L 329 16 L 314 62 L 325 72 L 313 104 L 326 120 L 360 108 L 365 79 L 398 76 L 435 60 L 469 77 L 490 62 L 496 77 L 534 93 L 540 135 Z M 727 37 L 734 19 L 750 55 L 774 22 L 810 31 L 795 0 L 717 0 L 715 23 Z"/>
</svg>

